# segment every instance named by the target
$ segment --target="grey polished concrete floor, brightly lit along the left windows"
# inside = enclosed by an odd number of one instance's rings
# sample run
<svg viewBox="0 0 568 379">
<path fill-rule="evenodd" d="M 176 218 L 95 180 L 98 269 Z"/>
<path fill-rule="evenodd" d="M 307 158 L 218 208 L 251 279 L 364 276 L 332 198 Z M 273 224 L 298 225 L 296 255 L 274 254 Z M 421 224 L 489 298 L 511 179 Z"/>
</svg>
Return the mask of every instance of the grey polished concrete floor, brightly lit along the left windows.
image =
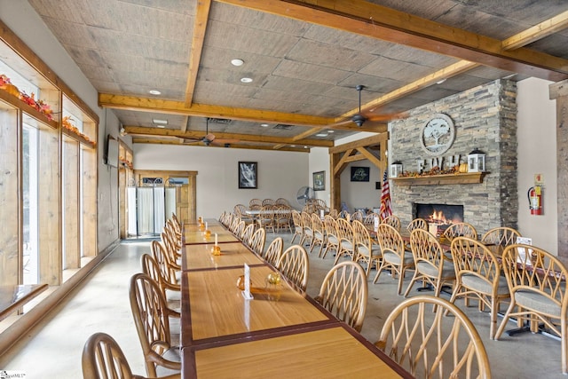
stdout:
<svg viewBox="0 0 568 379">
<path fill-rule="evenodd" d="M 290 234 L 280 233 L 289 246 Z M 276 234 L 268 233 L 266 247 Z M 122 243 L 107 257 L 83 286 L 60 304 L 34 330 L 24 336 L 11 351 L 0 357 L 0 371 L 23 371 L 27 379 L 80 378 L 83 344 L 91 334 L 104 331 L 121 345 L 134 374 L 146 375 L 142 351 L 130 312 L 128 283 L 140 271 L 140 257 L 150 252 L 149 242 Z M 334 257 L 310 256 L 307 292 L 316 296 L 321 280 L 333 265 Z M 404 297 L 397 296 L 397 281 L 382 275 L 377 284 L 369 281 L 367 317 L 361 333 L 375 342 L 390 310 Z M 403 291 L 410 280 L 407 275 Z M 418 294 L 411 291 L 410 296 Z M 422 293 L 423 294 L 423 293 Z M 446 296 L 449 299 L 449 296 Z M 458 305 L 472 320 L 484 340 L 493 378 L 565 377 L 560 368 L 560 342 L 547 336 L 525 333 L 514 337 L 503 334 L 500 341 L 489 339 L 489 316 L 477 312 L 477 306 Z M 498 323 L 501 319 L 498 320 Z M 511 323 L 511 328 L 515 324 Z"/>
</svg>

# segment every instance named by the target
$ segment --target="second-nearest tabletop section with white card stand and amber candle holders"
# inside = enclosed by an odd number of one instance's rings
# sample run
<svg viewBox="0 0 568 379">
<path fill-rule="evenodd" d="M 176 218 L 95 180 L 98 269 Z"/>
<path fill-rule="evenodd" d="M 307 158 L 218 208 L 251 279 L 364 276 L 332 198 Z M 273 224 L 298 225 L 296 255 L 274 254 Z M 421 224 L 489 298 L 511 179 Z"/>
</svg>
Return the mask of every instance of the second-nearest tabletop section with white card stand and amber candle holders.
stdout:
<svg viewBox="0 0 568 379">
<path fill-rule="evenodd" d="M 181 345 L 339 322 L 285 280 L 265 291 L 270 272 L 268 265 L 250 267 L 254 300 L 245 300 L 237 288 L 242 267 L 182 272 Z"/>
</svg>

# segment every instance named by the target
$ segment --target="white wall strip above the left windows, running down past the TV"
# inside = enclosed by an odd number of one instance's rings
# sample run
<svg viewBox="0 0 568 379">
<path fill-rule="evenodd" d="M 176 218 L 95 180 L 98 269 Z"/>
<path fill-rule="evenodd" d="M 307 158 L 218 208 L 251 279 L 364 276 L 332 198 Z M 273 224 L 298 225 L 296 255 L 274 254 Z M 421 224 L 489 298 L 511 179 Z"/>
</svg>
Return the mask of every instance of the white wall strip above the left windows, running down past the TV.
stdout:
<svg viewBox="0 0 568 379">
<path fill-rule="evenodd" d="M 99 114 L 98 248 L 99 251 L 105 249 L 119 237 L 118 207 L 115 206 L 117 170 L 107 169 L 102 163 L 106 134 L 117 137 L 118 121 L 110 111 L 105 116 L 103 109 L 98 106 L 97 91 L 27 1 L 0 0 L 0 20 L 59 75 L 80 99 Z"/>
</svg>

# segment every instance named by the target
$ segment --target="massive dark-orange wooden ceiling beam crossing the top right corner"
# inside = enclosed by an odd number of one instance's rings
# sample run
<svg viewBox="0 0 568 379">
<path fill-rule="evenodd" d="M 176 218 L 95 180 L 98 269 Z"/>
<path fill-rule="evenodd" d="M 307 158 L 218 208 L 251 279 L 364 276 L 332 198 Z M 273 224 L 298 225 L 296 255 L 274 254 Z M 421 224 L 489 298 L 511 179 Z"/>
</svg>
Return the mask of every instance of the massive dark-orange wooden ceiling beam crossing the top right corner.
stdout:
<svg viewBox="0 0 568 379">
<path fill-rule="evenodd" d="M 217 1 L 541 79 L 557 82 L 568 78 L 568 59 L 525 48 L 503 51 L 501 41 L 495 38 L 362 0 Z"/>
</svg>

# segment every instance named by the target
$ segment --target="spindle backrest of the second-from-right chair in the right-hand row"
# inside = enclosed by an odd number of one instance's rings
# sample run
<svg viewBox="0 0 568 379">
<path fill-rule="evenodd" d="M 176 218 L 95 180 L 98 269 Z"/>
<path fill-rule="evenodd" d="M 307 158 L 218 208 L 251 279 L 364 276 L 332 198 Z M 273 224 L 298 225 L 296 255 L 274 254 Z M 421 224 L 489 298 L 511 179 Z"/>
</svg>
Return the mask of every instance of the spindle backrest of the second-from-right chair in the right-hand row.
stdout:
<svg viewBox="0 0 568 379">
<path fill-rule="evenodd" d="M 452 241 L 452 258 L 458 280 L 464 277 L 477 278 L 487 284 L 487 288 L 497 293 L 501 265 L 493 252 L 480 241 L 468 237 L 455 237 Z"/>
</svg>

